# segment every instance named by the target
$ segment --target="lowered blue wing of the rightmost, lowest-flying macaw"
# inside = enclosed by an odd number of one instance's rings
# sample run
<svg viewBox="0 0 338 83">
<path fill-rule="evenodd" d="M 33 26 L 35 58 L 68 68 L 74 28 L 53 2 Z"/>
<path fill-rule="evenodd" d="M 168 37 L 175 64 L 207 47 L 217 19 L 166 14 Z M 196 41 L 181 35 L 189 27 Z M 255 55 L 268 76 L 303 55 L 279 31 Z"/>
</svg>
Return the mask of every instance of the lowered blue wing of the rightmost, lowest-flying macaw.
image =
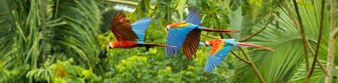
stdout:
<svg viewBox="0 0 338 83">
<path fill-rule="evenodd" d="M 212 55 L 208 56 L 206 66 L 204 67 L 204 71 L 211 73 L 214 68 L 219 65 L 222 60 L 225 58 L 225 56 L 230 52 L 231 46 L 230 44 L 224 44 L 222 49 L 218 50 Z M 212 48 L 212 49 L 217 49 L 217 48 Z"/>
</svg>

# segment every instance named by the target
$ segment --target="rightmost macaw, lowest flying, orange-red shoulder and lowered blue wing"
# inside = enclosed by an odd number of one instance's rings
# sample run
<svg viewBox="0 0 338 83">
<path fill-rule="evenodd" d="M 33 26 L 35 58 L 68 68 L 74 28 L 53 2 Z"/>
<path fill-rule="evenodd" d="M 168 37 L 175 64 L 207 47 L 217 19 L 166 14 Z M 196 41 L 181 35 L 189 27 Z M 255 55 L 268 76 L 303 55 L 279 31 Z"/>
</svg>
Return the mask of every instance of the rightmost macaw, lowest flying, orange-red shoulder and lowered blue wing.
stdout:
<svg viewBox="0 0 338 83">
<path fill-rule="evenodd" d="M 200 46 L 212 47 L 206 66 L 204 67 L 205 72 L 211 73 L 212 70 L 222 62 L 225 56 L 229 53 L 231 46 L 238 46 L 238 47 L 257 47 L 263 48 L 267 50 L 272 50 L 269 48 L 261 47 L 261 45 L 254 45 L 251 43 L 240 43 L 235 42 L 235 39 L 216 39 L 216 40 L 206 40 L 203 42 L 204 44 L 199 44 Z M 272 50 L 274 51 L 274 50 Z"/>
</svg>

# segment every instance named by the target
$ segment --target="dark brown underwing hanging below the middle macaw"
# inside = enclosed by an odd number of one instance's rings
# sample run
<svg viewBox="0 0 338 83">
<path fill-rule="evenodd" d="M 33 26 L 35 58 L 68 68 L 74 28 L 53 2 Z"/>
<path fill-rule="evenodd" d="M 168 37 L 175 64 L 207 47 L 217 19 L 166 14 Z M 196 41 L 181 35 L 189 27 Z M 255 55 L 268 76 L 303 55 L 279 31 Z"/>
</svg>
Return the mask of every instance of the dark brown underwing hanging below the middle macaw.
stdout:
<svg viewBox="0 0 338 83">
<path fill-rule="evenodd" d="M 183 42 L 183 52 L 189 60 L 193 60 L 192 55 L 196 58 L 196 52 L 198 49 L 199 41 L 201 39 L 201 30 L 193 29 L 187 34 L 186 40 Z"/>
</svg>

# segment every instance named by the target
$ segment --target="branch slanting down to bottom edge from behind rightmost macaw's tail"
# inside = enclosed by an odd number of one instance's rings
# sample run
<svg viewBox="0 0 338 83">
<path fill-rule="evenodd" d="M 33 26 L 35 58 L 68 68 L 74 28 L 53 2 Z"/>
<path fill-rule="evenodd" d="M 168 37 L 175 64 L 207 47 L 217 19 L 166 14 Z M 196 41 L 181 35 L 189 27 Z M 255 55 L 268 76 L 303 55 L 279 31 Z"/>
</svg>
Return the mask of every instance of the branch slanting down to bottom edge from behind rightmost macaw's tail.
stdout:
<svg viewBox="0 0 338 83">
<path fill-rule="evenodd" d="M 229 38 L 234 38 L 234 37 L 231 36 L 231 34 L 226 33 L 226 35 L 227 35 Z M 259 73 L 259 71 L 258 71 L 256 65 L 255 65 L 254 62 L 251 60 L 250 56 L 245 52 L 245 50 L 244 50 L 242 47 L 238 47 L 238 48 L 239 48 L 239 50 L 242 51 L 243 55 L 244 55 L 245 58 L 248 60 L 250 66 L 251 66 L 251 68 L 252 68 L 252 70 L 254 70 L 254 72 L 255 72 L 256 76 L 258 77 L 259 81 L 260 81 L 261 83 L 265 83 L 263 77 L 262 77 L 261 74 Z"/>
</svg>

